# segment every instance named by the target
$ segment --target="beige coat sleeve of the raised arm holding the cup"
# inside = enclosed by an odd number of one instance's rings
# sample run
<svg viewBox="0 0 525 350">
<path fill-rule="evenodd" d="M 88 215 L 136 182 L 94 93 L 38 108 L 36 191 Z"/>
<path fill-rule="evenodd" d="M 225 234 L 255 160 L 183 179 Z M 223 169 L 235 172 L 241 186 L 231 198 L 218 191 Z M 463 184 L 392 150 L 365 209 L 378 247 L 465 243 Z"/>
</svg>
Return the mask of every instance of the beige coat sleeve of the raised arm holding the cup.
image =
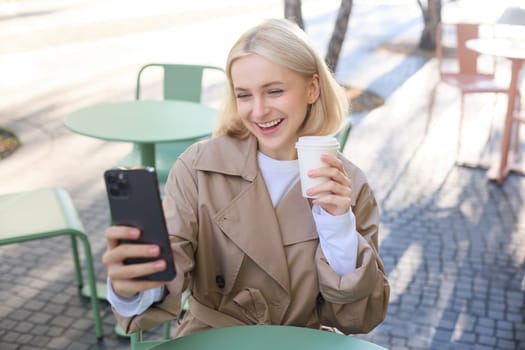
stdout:
<svg viewBox="0 0 525 350">
<path fill-rule="evenodd" d="M 345 334 L 367 333 L 374 329 L 386 316 L 390 295 L 379 256 L 379 208 L 364 175 L 352 180 L 353 189 L 357 190 L 352 210 L 359 232 L 356 269 L 339 277 L 320 247 L 316 252 L 319 289 L 323 297 L 319 306 L 321 323 Z"/>
</svg>

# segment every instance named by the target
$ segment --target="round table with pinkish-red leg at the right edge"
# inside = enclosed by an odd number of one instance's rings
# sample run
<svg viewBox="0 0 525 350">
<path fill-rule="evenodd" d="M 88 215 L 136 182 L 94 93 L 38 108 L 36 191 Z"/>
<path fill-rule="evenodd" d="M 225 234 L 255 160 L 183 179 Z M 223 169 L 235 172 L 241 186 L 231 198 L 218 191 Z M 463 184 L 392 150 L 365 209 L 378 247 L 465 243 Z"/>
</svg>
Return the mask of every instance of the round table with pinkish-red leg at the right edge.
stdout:
<svg viewBox="0 0 525 350">
<path fill-rule="evenodd" d="M 517 38 L 479 38 L 467 41 L 467 47 L 479 53 L 503 57 L 511 61 L 511 79 L 508 87 L 507 109 L 499 161 L 496 164 L 491 164 L 487 172 L 489 179 L 502 184 L 509 172 L 524 173 L 518 162 L 520 141 L 518 130 L 520 124 L 525 122 L 525 118 L 520 116 L 518 82 L 520 71 L 525 62 L 525 40 Z M 514 147 L 511 149 L 512 142 L 514 142 Z"/>
</svg>

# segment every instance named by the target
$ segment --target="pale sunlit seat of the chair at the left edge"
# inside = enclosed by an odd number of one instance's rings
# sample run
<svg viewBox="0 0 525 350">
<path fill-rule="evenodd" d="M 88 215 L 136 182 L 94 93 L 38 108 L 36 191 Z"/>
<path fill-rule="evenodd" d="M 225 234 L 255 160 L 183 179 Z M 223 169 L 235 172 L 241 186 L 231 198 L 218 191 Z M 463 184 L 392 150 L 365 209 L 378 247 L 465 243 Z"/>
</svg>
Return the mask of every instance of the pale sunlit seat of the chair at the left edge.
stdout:
<svg viewBox="0 0 525 350">
<path fill-rule="evenodd" d="M 69 195 L 61 188 L 0 195 L 0 243 L 84 228 Z"/>
</svg>

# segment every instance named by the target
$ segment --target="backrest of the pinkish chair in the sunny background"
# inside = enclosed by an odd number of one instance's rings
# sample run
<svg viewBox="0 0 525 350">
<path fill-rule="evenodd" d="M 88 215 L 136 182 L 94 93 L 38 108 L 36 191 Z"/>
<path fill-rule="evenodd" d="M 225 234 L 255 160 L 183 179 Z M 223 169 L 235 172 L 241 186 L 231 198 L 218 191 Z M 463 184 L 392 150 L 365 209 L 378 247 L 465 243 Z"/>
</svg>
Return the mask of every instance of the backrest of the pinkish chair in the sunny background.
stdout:
<svg viewBox="0 0 525 350">
<path fill-rule="evenodd" d="M 478 58 L 480 56 L 474 50 L 470 50 L 466 46 L 466 42 L 470 39 L 479 37 L 480 26 L 477 23 L 440 23 L 437 26 L 436 33 L 436 57 L 441 73 L 450 73 L 443 70 L 444 44 L 443 36 L 446 29 L 453 29 L 455 32 L 456 54 L 457 60 L 457 74 L 460 75 L 475 75 L 479 73 Z"/>
</svg>

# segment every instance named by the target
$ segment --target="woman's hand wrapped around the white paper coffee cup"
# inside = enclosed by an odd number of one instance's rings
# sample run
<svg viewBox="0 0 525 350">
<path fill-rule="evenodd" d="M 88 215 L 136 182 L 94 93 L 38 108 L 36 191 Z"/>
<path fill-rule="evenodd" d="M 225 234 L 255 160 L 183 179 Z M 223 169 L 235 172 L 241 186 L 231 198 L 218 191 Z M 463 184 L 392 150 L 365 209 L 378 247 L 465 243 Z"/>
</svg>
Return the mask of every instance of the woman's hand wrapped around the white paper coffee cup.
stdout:
<svg viewBox="0 0 525 350">
<path fill-rule="evenodd" d="M 335 156 L 323 154 L 321 160 L 327 164 L 326 167 L 310 170 L 308 176 L 324 176 L 329 179 L 320 185 L 309 188 L 308 195 L 318 198 L 312 200 L 331 215 L 343 215 L 350 210 L 352 198 L 352 181 L 348 178 L 343 167 L 343 162 Z"/>
</svg>

